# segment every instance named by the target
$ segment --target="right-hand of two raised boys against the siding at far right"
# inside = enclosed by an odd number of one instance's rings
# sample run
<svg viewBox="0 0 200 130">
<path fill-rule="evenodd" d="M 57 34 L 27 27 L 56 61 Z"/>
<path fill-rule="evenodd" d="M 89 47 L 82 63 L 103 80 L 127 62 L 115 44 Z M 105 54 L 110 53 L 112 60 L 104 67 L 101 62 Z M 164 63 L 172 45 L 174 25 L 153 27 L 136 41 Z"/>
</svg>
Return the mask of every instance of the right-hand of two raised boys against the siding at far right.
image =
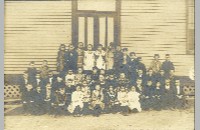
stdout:
<svg viewBox="0 0 200 130">
<path fill-rule="evenodd" d="M 165 61 L 162 63 L 161 69 L 164 70 L 166 77 L 169 77 L 170 71 L 175 70 L 174 64 L 170 61 L 170 55 L 165 55 Z"/>
</svg>

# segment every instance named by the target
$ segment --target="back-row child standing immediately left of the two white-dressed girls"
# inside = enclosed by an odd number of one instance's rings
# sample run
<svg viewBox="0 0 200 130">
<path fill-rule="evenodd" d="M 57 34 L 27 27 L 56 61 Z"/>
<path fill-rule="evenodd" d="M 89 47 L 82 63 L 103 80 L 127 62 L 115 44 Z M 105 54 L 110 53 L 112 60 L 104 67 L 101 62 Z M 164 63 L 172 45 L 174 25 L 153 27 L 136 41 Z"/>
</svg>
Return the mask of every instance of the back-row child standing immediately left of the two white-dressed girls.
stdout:
<svg viewBox="0 0 200 130">
<path fill-rule="evenodd" d="M 78 43 L 78 48 L 76 49 L 77 53 L 78 53 L 78 59 L 77 59 L 77 67 L 83 67 L 83 43 L 79 42 Z"/>
</svg>

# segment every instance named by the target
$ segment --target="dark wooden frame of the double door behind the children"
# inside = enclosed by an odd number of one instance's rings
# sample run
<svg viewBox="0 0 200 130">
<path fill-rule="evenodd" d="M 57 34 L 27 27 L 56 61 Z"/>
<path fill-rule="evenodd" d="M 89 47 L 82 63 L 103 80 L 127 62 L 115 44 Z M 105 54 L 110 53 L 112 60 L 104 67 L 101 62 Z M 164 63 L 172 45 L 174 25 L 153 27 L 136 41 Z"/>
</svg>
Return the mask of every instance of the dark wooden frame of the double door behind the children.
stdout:
<svg viewBox="0 0 200 130">
<path fill-rule="evenodd" d="M 78 43 L 78 18 L 79 17 L 94 17 L 94 22 L 98 23 L 99 17 L 113 17 L 114 19 L 114 43 L 116 45 L 121 44 L 121 19 L 120 19 L 120 13 L 121 13 L 121 0 L 115 0 L 115 11 L 93 11 L 93 10 L 78 10 L 78 0 L 72 0 L 72 44 L 77 47 Z M 87 23 L 87 20 L 85 21 Z M 85 24 L 85 26 L 87 26 Z M 98 26 L 94 27 L 94 43 L 99 43 L 98 36 L 95 36 L 99 34 Z M 87 38 L 85 38 L 87 39 Z M 87 41 L 84 41 L 87 42 Z"/>
</svg>

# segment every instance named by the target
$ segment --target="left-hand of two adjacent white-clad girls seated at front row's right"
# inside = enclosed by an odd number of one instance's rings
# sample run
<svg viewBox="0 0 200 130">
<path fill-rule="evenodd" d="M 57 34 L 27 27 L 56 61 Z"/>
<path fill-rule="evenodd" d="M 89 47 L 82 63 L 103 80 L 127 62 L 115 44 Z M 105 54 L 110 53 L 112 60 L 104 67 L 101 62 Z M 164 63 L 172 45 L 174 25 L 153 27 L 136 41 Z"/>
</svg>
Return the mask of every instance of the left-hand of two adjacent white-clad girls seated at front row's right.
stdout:
<svg viewBox="0 0 200 130">
<path fill-rule="evenodd" d="M 124 116 L 128 114 L 128 95 L 125 87 L 121 87 L 117 93 L 117 100 L 119 101 L 119 109 Z"/>
</svg>

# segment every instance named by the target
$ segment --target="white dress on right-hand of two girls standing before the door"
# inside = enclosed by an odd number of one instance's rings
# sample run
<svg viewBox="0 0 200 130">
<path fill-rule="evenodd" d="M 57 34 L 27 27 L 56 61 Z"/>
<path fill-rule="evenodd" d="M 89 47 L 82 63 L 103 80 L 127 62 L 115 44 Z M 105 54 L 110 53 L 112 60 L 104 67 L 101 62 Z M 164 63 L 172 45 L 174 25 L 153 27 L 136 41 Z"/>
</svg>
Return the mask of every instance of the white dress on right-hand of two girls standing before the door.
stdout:
<svg viewBox="0 0 200 130">
<path fill-rule="evenodd" d="M 98 69 L 106 69 L 105 56 L 106 53 L 103 50 L 101 52 L 98 50 L 95 52 L 96 67 Z"/>
</svg>

